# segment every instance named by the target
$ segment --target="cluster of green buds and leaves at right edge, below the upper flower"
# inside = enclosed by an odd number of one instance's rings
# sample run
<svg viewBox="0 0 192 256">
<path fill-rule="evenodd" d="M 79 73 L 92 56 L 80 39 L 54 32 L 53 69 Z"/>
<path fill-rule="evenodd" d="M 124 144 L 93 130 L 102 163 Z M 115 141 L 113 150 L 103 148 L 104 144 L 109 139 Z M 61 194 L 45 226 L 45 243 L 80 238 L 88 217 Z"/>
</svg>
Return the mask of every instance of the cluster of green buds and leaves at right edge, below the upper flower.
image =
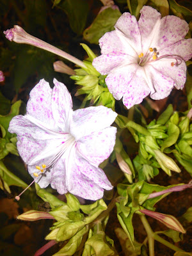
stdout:
<svg viewBox="0 0 192 256">
<path fill-rule="evenodd" d="M 139 180 L 148 180 L 156 176 L 159 168 L 168 175 L 172 175 L 171 171 L 180 172 L 179 166 L 168 154 L 175 156 L 191 173 L 192 126 L 189 124 L 187 113 L 174 112 L 172 105 L 169 105 L 157 120 L 152 120 L 145 127 L 121 115 L 116 118 L 116 124 L 120 128 L 127 127 L 136 142 L 140 143 L 138 155 L 133 159 Z"/>
</svg>

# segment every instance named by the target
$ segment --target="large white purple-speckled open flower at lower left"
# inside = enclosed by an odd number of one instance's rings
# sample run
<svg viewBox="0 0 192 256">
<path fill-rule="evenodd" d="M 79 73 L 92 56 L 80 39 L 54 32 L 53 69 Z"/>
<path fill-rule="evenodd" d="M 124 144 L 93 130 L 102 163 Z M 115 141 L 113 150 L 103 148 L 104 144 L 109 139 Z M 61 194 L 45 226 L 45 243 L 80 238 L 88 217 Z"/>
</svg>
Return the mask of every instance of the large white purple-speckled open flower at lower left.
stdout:
<svg viewBox="0 0 192 256">
<path fill-rule="evenodd" d="M 113 188 L 99 164 L 113 151 L 116 116 L 104 106 L 73 111 L 67 87 L 54 79 L 51 89 L 42 79 L 26 115 L 13 117 L 8 131 L 17 134 L 19 154 L 41 188 L 51 184 L 60 194 L 97 200 Z"/>
</svg>

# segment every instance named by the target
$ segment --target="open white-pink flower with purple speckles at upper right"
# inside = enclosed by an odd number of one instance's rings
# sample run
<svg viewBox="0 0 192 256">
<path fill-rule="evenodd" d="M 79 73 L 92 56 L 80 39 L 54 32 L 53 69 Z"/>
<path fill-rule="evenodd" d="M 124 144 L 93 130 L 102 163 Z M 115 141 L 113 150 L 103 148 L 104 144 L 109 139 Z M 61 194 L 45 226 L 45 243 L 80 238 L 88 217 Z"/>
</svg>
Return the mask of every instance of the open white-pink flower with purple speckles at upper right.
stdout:
<svg viewBox="0 0 192 256">
<path fill-rule="evenodd" d="M 115 30 L 99 40 L 102 55 L 93 66 L 106 77 L 109 92 L 123 98 L 129 109 L 150 93 L 164 99 L 172 88 L 182 89 L 186 81 L 185 61 L 192 57 L 192 39 L 184 39 L 189 26 L 185 20 L 161 14 L 143 6 L 140 20 L 124 13 Z"/>
</svg>

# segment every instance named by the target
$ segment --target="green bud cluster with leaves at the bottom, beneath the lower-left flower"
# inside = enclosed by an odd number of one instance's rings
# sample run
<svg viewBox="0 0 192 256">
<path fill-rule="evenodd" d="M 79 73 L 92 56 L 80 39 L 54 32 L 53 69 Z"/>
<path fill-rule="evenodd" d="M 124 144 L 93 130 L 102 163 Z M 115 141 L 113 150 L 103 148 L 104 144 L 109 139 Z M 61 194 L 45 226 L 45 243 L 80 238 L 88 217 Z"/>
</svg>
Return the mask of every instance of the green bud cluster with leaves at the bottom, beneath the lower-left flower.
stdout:
<svg viewBox="0 0 192 256">
<path fill-rule="evenodd" d="M 113 240 L 104 232 L 108 223 L 108 212 L 104 212 L 108 207 L 104 200 L 97 200 L 90 205 L 81 205 L 76 196 L 67 193 L 67 203 L 65 203 L 45 189 L 41 189 L 38 184 L 36 184 L 36 193 L 45 202 L 49 202 L 51 211 L 28 211 L 19 215 L 17 219 L 26 221 L 56 220 L 50 228 L 51 232 L 45 237 L 50 242 L 54 241 L 51 245 L 64 242 L 62 243 L 64 246 L 54 254 L 55 256 L 74 255 L 75 252 L 81 252 L 80 254 L 83 256 L 115 255 Z M 47 249 L 50 247 L 50 242 L 47 243 Z M 42 248 L 39 251 L 42 252 Z M 40 252 L 36 255 L 41 255 Z"/>
</svg>

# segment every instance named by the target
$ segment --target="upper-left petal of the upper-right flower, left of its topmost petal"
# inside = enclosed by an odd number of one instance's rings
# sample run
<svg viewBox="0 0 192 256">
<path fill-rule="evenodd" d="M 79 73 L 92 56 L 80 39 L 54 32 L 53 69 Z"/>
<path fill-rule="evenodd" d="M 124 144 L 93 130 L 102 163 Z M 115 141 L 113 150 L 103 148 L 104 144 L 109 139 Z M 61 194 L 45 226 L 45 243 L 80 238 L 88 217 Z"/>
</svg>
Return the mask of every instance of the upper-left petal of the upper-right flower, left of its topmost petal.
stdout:
<svg viewBox="0 0 192 256">
<path fill-rule="evenodd" d="M 119 35 L 120 41 L 122 41 L 122 36 L 125 35 L 127 45 L 125 46 L 125 51 L 129 53 L 129 45 L 138 54 L 141 53 L 141 35 L 140 29 L 138 28 L 138 21 L 134 15 L 129 12 L 125 12 L 116 22 L 115 29 L 117 35 Z M 110 42 L 108 43 L 110 44 Z M 132 51 L 131 51 L 132 52 Z M 131 53 L 129 53 L 132 55 Z"/>
</svg>

